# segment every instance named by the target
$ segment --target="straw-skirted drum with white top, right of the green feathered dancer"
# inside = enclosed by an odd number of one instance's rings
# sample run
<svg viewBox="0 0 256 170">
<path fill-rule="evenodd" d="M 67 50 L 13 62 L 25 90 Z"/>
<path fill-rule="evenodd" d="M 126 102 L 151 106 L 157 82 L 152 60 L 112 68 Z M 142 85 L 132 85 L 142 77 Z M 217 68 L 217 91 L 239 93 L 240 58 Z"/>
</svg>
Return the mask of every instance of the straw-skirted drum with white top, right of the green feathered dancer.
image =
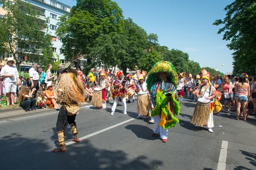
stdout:
<svg viewBox="0 0 256 170">
<path fill-rule="evenodd" d="M 191 119 L 193 125 L 203 127 L 208 124 L 209 115 L 211 113 L 211 101 L 204 98 L 199 98 L 195 106 L 194 114 Z"/>
</svg>

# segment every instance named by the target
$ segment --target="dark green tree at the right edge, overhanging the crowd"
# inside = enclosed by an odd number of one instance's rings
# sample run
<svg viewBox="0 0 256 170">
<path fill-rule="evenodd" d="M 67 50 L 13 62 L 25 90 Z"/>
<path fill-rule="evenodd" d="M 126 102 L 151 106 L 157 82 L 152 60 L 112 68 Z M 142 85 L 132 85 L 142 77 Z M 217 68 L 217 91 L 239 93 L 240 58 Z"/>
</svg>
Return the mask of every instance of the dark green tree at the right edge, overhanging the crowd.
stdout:
<svg viewBox="0 0 256 170">
<path fill-rule="evenodd" d="M 233 74 L 255 74 L 256 66 L 256 2 L 255 0 L 235 0 L 224 8 L 224 20 L 215 20 L 213 25 L 224 25 L 218 34 L 224 33 L 223 40 L 233 53 Z"/>
</svg>

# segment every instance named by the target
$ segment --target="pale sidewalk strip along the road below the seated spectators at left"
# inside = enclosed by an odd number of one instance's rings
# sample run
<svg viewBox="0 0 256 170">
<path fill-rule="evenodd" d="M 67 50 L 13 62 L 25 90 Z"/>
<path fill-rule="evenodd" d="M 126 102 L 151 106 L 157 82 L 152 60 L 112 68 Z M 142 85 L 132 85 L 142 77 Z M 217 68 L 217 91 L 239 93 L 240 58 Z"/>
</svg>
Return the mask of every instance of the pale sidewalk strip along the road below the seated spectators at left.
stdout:
<svg viewBox="0 0 256 170">
<path fill-rule="evenodd" d="M 112 100 L 110 100 L 112 101 Z M 84 102 L 81 104 L 80 107 L 92 105 L 92 103 Z M 22 118 L 22 117 L 27 117 L 27 116 L 35 116 L 35 115 L 40 115 L 40 114 L 45 114 L 45 113 L 58 113 L 55 109 L 38 109 L 36 111 L 31 111 L 31 112 L 25 112 L 21 107 L 19 108 L 9 108 L 9 109 L 2 109 L 0 110 L 0 121 L 5 121 L 5 120 L 11 120 L 11 119 L 17 119 L 17 118 Z"/>
</svg>

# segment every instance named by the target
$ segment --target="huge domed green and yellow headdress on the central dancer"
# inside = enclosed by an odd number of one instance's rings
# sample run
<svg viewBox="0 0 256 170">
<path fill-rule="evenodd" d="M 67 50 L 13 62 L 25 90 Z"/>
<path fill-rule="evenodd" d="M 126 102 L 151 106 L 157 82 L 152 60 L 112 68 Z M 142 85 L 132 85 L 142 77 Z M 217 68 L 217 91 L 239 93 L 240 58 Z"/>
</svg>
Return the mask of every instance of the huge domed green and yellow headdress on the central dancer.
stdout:
<svg viewBox="0 0 256 170">
<path fill-rule="evenodd" d="M 158 73 L 166 72 L 167 73 L 167 79 L 171 80 L 175 88 L 177 88 L 178 85 L 178 74 L 176 72 L 175 67 L 172 65 L 171 62 L 168 61 L 160 61 L 156 62 L 151 70 L 148 72 L 148 78 L 147 78 L 147 89 L 150 91 L 151 86 L 154 82 L 156 82 L 158 79 Z"/>
</svg>

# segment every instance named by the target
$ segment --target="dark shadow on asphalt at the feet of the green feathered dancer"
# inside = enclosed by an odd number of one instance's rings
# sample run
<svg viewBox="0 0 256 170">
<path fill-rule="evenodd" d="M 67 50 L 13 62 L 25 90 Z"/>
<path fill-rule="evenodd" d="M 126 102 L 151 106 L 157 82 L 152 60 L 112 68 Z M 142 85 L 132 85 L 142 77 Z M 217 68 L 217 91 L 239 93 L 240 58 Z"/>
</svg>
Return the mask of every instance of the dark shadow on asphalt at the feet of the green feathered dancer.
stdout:
<svg viewBox="0 0 256 170">
<path fill-rule="evenodd" d="M 159 136 L 153 137 L 151 134 L 154 132 L 151 128 L 142 125 L 127 125 L 125 129 L 131 130 L 138 138 L 146 140 L 157 140 Z"/>
</svg>

